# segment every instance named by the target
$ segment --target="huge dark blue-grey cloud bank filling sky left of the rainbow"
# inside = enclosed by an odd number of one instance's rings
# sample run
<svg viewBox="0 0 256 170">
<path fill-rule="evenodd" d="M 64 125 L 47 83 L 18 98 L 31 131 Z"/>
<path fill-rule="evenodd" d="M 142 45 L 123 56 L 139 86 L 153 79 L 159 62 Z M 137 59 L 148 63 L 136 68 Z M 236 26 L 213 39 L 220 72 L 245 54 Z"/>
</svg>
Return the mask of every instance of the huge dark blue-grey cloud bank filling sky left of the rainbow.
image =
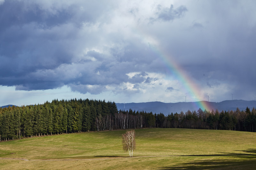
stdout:
<svg viewBox="0 0 256 170">
<path fill-rule="evenodd" d="M 103 34 L 106 36 L 103 43 L 121 42 L 121 46 L 106 48 L 108 54 L 95 50 L 82 54 L 84 48 L 100 45 L 100 34 L 105 31 L 101 27 L 108 22 L 102 16 L 108 18 L 104 13 L 108 6 L 90 1 L 87 4 L 4 2 L 0 5 L 1 16 L 5 16 L 0 18 L 0 41 L 5 42 L 0 45 L 1 85 L 14 85 L 16 90 L 68 85 L 73 91 L 98 94 L 105 85 L 150 83 L 152 78 L 145 71 L 162 67 L 156 54 L 141 39 L 124 41 L 122 32 Z M 174 13 L 176 10 L 171 9 Z M 129 72 L 140 74 L 128 78 Z"/>
</svg>

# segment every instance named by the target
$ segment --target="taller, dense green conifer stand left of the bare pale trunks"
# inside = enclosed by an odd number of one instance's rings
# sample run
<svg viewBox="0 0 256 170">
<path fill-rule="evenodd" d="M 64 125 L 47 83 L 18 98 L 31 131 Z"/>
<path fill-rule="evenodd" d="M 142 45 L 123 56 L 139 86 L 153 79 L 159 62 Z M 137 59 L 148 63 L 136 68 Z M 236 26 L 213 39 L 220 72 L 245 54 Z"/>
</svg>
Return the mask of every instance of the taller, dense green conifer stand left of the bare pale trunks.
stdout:
<svg viewBox="0 0 256 170">
<path fill-rule="evenodd" d="M 88 99 L 0 108 L 0 140 L 96 130 L 97 117 L 116 113 L 115 102 Z"/>
</svg>

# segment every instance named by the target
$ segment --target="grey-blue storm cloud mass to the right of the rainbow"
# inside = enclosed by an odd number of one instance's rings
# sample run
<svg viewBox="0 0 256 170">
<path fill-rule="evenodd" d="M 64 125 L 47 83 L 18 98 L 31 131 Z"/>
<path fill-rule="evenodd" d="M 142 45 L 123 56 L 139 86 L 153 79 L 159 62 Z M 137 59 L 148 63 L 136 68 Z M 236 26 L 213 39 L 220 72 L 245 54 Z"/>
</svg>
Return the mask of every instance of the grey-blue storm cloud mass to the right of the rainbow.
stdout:
<svg viewBox="0 0 256 170">
<path fill-rule="evenodd" d="M 250 3 L 255 4 L 253 1 Z M 252 57 L 256 53 L 256 48 L 253 48 L 256 42 L 255 17 L 250 7 L 241 1 L 204 2 L 200 5 L 205 7 L 200 11 L 201 15 L 189 16 L 191 20 L 187 26 L 190 29 L 187 27 L 186 31 L 180 31 L 180 27 L 172 26 L 169 29 L 175 34 L 164 35 L 167 28 L 159 26 L 158 35 L 163 37 L 169 53 L 198 84 L 216 88 L 216 84 L 206 82 L 221 82 L 240 88 L 246 86 L 248 93 L 255 91 L 250 84 L 245 83 L 256 82 L 256 58 Z M 186 7 L 188 12 L 199 10 L 197 6 Z M 232 90 L 231 87 L 229 90 Z"/>
</svg>

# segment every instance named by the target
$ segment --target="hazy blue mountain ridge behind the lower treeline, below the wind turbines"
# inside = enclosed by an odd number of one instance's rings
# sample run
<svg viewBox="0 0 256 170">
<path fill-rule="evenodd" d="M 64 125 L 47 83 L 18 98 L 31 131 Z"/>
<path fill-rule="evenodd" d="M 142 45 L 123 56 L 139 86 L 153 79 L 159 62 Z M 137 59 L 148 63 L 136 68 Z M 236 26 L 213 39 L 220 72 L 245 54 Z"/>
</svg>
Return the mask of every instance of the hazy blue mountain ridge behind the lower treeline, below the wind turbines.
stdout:
<svg viewBox="0 0 256 170">
<path fill-rule="evenodd" d="M 202 102 L 202 101 L 200 101 Z M 246 101 L 246 100 L 224 100 L 221 102 L 208 102 L 203 101 L 205 104 L 211 107 L 211 110 L 214 111 L 218 109 L 219 111 L 222 110 L 236 110 L 236 108 L 239 108 L 240 110 L 245 110 L 246 107 L 249 107 L 251 110 L 253 107 L 256 107 L 256 101 Z M 146 111 L 146 112 L 153 112 L 153 113 L 163 113 L 164 115 L 168 115 L 169 113 L 180 113 L 183 111 L 184 113 L 188 110 L 194 111 L 198 110 L 198 104 L 197 102 L 178 102 L 178 103 L 163 103 L 159 101 L 153 101 L 153 102 L 145 102 L 145 103 L 116 103 L 118 110 L 129 110 L 130 108 L 132 110 L 138 110 L 138 111 Z M 125 107 L 125 108 L 124 108 Z"/>
</svg>

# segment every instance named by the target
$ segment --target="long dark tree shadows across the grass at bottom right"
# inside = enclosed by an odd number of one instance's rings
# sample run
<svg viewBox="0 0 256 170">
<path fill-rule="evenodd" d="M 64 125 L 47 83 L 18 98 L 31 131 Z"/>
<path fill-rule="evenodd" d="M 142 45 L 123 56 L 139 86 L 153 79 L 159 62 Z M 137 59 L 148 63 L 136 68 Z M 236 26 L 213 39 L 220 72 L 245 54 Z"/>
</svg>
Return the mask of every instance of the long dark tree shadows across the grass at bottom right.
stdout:
<svg viewBox="0 0 256 170">
<path fill-rule="evenodd" d="M 237 150 L 236 150 L 237 151 Z M 241 151 L 240 151 L 241 152 Z M 256 169 L 256 149 L 247 149 L 246 153 L 221 153 L 213 155 L 182 155 L 190 157 L 225 157 L 220 159 L 210 159 L 181 163 L 179 166 L 158 167 L 157 169 L 177 170 L 177 169 Z M 229 159 L 227 156 L 232 156 Z M 235 157 L 235 158 L 234 158 Z M 237 158 L 237 159 L 236 159 Z"/>
</svg>

